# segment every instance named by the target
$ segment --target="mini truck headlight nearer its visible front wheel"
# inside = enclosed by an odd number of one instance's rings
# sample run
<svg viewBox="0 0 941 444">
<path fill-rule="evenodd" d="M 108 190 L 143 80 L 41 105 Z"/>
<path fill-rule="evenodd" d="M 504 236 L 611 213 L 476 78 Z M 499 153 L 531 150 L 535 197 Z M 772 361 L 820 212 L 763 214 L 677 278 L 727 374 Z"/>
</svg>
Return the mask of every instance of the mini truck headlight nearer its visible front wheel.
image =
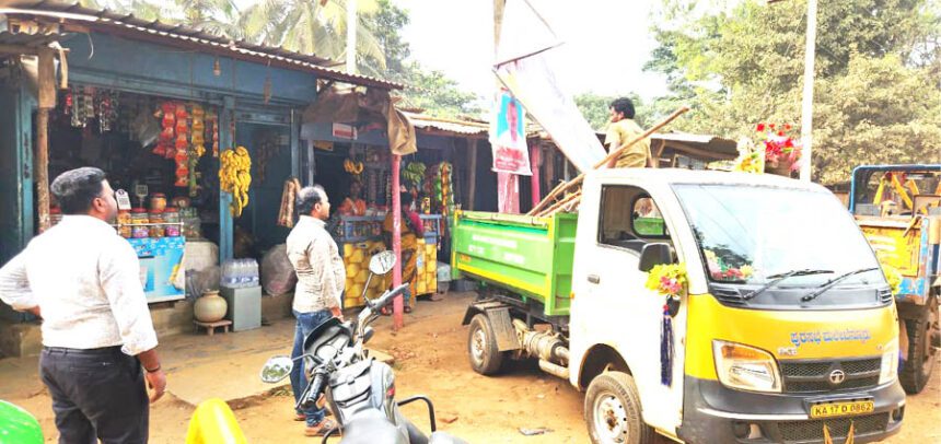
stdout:
<svg viewBox="0 0 941 444">
<path fill-rule="evenodd" d="M 771 353 L 741 343 L 713 340 L 712 355 L 722 385 L 750 392 L 781 392 L 778 362 Z"/>
</svg>

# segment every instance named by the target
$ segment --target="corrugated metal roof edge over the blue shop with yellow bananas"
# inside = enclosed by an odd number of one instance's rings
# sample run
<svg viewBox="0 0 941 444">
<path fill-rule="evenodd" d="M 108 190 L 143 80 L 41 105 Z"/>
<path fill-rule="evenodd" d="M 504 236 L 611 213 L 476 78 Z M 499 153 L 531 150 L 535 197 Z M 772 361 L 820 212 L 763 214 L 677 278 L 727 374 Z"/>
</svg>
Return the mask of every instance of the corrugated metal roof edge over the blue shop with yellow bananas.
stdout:
<svg viewBox="0 0 941 444">
<path fill-rule="evenodd" d="M 287 68 L 311 71 L 325 79 L 365 86 L 403 89 L 403 85 L 386 80 L 351 74 L 324 67 L 330 60 L 315 55 L 304 55 L 280 47 L 257 45 L 244 40 L 232 40 L 193 27 L 167 24 L 160 21 L 146 21 L 133 14 L 119 14 L 109 10 L 97 10 L 61 1 L 20 1 L 16 9 L 0 8 L 0 13 L 15 16 L 49 17 L 60 23 L 72 23 L 104 33 L 113 33 L 128 38 L 161 40 L 171 46 L 196 46 L 206 52 L 248 58 L 254 61 L 274 61 Z"/>
</svg>

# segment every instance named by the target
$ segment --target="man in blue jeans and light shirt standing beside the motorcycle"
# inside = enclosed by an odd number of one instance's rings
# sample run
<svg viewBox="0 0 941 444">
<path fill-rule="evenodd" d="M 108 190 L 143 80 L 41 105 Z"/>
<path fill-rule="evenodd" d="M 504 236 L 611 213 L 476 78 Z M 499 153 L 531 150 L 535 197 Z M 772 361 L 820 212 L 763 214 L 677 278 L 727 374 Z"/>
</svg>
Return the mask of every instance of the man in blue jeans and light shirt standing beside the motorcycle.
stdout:
<svg viewBox="0 0 941 444">
<path fill-rule="evenodd" d="M 298 191 L 297 208 L 300 220 L 288 235 L 288 259 L 298 273 L 293 303 L 298 326 L 291 358 L 303 354 L 304 338 L 318 325 L 334 316 L 342 319 L 340 297 L 346 284 L 346 267 L 336 242 L 325 229 L 330 202 L 324 188 L 320 185 L 302 188 Z M 307 379 L 300 362 L 291 371 L 295 404 L 306 387 Z M 316 407 L 297 411 L 295 419 L 306 421 L 304 434 L 307 436 L 320 436 L 336 428 L 333 421 L 324 418 L 324 409 Z"/>
</svg>

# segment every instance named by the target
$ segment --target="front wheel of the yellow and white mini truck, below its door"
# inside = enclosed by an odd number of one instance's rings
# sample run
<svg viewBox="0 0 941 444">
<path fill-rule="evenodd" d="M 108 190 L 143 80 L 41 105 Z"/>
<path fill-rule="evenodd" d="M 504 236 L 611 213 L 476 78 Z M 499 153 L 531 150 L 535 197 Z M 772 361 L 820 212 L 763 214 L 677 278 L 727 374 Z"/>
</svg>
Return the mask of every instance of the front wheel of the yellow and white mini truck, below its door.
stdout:
<svg viewBox="0 0 941 444">
<path fill-rule="evenodd" d="M 640 395 L 629 374 L 606 372 L 589 384 L 584 416 L 592 443 L 653 443 L 653 429 L 640 411 Z"/>
</svg>

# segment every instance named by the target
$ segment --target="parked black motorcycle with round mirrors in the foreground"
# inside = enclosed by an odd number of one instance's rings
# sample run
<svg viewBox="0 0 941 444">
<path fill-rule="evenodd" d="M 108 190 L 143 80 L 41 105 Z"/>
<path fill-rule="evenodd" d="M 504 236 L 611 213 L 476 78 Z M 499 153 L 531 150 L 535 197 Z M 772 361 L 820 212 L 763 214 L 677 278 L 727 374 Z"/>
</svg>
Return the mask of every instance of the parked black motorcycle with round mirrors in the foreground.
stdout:
<svg viewBox="0 0 941 444">
<path fill-rule="evenodd" d="M 269 384 L 283 381 L 295 361 L 303 360 L 309 384 L 295 407 L 323 407 L 329 402 L 330 411 L 342 430 L 341 444 L 466 444 L 437 431 L 434 406 L 427 397 L 413 396 L 396 401 L 392 367 L 370 358 L 363 349 L 375 332 L 369 325 L 379 317 L 380 309 L 407 291 L 406 284 L 386 291 L 375 301 L 365 295 L 373 276 L 388 273 L 395 260 L 392 252 L 373 255 L 369 264 L 370 276 L 363 287 L 365 307 L 357 318 L 346 323 L 338 318 L 324 322 L 304 339 L 304 354 L 293 360 L 288 357 L 269 359 L 262 369 L 262 381 Z M 430 436 L 419 431 L 399 410 L 400 406 L 415 401 L 423 401 L 428 406 Z M 323 443 L 334 431 L 327 432 Z"/>
</svg>

